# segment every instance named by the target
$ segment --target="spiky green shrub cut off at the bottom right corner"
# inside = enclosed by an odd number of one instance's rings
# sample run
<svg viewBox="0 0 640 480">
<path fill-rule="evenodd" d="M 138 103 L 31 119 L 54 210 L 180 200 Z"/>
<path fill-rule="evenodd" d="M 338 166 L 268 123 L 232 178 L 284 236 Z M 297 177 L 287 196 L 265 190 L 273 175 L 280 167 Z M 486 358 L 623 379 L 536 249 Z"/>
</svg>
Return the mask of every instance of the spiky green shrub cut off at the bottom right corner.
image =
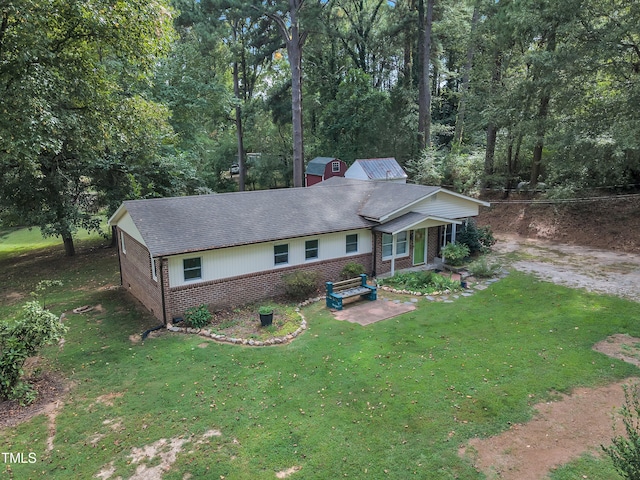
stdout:
<svg viewBox="0 0 640 480">
<path fill-rule="evenodd" d="M 618 473 L 629 480 L 640 478 L 640 385 L 624 385 L 625 403 L 620 410 L 625 436 L 616 435 L 613 445 L 602 450 L 609 455 Z M 615 431 L 615 429 L 614 429 Z"/>
</svg>

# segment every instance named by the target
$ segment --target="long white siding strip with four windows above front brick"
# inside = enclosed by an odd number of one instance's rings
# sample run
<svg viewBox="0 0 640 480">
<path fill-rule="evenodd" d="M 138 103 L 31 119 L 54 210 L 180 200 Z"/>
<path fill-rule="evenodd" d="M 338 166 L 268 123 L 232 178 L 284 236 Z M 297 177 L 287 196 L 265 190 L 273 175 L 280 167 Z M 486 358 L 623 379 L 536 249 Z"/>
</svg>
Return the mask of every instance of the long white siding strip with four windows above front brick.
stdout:
<svg viewBox="0 0 640 480">
<path fill-rule="evenodd" d="M 278 268 L 286 268 L 294 265 L 304 265 L 347 257 L 349 255 L 345 254 L 346 236 L 354 233 L 358 234 L 358 251 L 351 255 L 371 253 L 371 231 L 361 229 L 175 255 L 169 257 L 169 286 L 177 287 L 191 283 L 220 280 L 239 275 L 277 270 Z M 307 240 L 318 240 L 317 259 L 305 260 L 305 242 Z M 289 261 L 283 265 L 275 265 L 273 247 L 274 245 L 284 244 L 289 245 Z M 185 281 L 183 259 L 194 257 L 200 257 L 202 259 L 202 278 Z"/>
</svg>

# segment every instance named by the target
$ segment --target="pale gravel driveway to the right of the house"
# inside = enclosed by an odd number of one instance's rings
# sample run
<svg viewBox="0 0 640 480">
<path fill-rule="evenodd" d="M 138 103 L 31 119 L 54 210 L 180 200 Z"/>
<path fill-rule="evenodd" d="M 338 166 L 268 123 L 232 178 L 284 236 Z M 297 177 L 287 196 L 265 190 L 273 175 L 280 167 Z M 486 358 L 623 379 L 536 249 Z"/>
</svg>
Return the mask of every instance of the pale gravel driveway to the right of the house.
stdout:
<svg viewBox="0 0 640 480">
<path fill-rule="evenodd" d="M 512 268 L 571 288 L 640 302 L 640 255 L 498 235 L 496 258 Z"/>
</svg>

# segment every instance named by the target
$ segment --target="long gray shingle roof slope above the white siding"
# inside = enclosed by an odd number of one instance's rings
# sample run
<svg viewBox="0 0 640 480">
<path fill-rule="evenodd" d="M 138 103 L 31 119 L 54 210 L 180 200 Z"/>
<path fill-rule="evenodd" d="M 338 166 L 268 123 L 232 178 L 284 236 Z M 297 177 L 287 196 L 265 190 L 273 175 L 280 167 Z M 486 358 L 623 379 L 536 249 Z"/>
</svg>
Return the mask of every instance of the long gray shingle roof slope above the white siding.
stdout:
<svg viewBox="0 0 640 480">
<path fill-rule="evenodd" d="M 129 200 L 154 257 L 367 228 L 359 188 L 314 186 Z"/>
</svg>

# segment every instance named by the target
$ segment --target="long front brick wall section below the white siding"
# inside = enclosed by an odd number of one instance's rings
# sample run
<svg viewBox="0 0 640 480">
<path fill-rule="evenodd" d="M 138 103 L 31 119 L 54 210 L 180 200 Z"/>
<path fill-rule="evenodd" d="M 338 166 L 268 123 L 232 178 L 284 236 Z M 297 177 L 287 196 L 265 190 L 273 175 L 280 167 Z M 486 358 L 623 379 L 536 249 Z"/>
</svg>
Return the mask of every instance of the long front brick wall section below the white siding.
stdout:
<svg viewBox="0 0 640 480">
<path fill-rule="evenodd" d="M 265 272 L 241 275 L 232 278 L 203 282 L 196 285 L 184 285 L 167 288 L 165 294 L 165 307 L 167 320 L 181 317 L 189 307 L 201 304 L 209 305 L 212 310 L 259 302 L 261 300 L 277 297 L 284 294 L 282 275 L 294 271 L 315 271 L 321 280 L 319 292 L 324 292 L 324 282 L 340 280 L 340 272 L 347 263 L 356 262 L 365 267 L 366 272 L 371 272 L 371 254 L 343 257 L 325 262 L 308 265 L 297 265 L 289 268 L 269 270 Z M 166 260 L 163 269 L 167 269 Z M 169 276 L 165 272 L 164 278 Z"/>
</svg>

